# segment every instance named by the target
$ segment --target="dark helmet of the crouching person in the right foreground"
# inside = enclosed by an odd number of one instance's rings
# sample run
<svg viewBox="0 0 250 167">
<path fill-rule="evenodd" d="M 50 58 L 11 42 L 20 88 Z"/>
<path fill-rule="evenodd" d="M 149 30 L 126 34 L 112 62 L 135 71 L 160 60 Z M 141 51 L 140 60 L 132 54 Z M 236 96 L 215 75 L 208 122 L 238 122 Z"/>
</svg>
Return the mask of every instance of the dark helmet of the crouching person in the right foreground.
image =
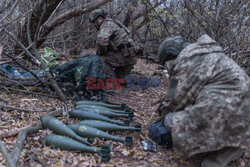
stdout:
<svg viewBox="0 0 250 167">
<path fill-rule="evenodd" d="M 158 49 L 159 64 L 175 59 L 188 44 L 181 36 L 167 37 Z"/>
</svg>

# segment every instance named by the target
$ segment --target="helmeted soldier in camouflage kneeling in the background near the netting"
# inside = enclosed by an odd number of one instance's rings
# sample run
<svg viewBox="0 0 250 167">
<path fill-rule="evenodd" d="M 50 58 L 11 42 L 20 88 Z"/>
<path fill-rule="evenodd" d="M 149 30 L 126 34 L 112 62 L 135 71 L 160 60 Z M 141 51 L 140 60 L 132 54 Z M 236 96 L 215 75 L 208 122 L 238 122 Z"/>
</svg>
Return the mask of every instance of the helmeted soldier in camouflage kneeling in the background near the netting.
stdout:
<svg viewBox="0 0 250 167">
<path fill-rule="evenodd" d="M 98 30 L 96 54 L 104 60 L 107 78 L 124 78 L 136 64 L 139 51 L 129 36 L 129 30 L 119 21 L 108 18 L 102 9 L 92 11 L 89 21 Z"/>
</svg>

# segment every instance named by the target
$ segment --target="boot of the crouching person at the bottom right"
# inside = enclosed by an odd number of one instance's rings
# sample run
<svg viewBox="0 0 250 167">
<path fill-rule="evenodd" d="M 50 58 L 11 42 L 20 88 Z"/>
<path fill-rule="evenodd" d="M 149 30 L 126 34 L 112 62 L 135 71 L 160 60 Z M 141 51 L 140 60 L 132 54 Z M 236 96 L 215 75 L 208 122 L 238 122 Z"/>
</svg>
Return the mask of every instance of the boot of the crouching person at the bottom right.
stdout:
<svg viewBox="0 0 250 167">
<path fill-rule="evenodd" d="M 201 167 L 226 167 L 230 162 L 241 157 L 243 150 L 240 148 L 226 147 L 208 155 Z"/>
</svg>

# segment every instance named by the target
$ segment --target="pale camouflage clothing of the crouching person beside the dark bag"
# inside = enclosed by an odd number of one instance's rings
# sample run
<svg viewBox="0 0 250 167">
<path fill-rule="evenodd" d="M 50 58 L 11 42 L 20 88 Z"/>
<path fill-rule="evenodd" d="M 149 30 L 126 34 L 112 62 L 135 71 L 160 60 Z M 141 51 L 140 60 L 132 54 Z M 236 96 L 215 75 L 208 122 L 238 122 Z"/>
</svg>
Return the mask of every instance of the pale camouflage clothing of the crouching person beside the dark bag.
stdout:
<svg viewBox="0 0 250 167">
<path fill-rule="evenodd" d="M 201 36 L 165 66 L 170 85 L 159 110 L 178 154 L 239 147 L 249 139 L 249 77 L 214 40 Z"/>
</svg>

